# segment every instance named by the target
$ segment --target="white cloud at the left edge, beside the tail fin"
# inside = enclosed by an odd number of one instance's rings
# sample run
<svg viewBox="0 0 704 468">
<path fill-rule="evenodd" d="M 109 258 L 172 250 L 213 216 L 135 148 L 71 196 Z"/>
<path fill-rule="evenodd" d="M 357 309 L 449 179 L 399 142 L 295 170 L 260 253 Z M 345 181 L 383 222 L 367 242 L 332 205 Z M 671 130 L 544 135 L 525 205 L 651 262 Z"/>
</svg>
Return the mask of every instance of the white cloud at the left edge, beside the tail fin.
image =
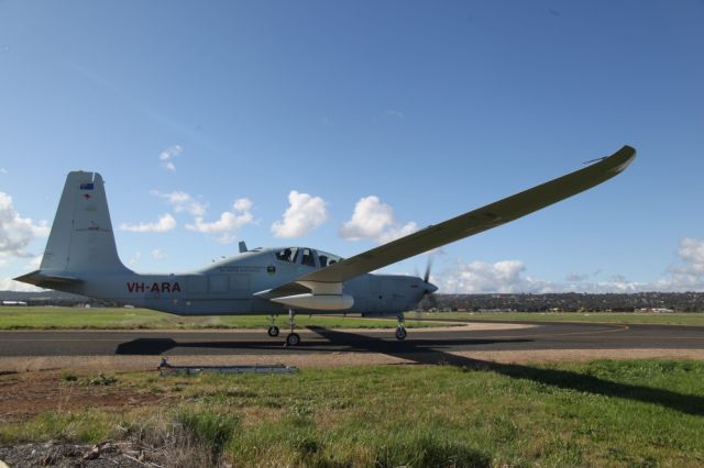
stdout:
<svg viewBox="0 0 704 468">
<path fill-rule="evenodd" d="M 35 237 L 48 235 L 48 231 L 45 221 L 34 224 L 30 218 L 22 218 L 12 207 L 12 197 L 0 192 L 0 258 L 31 257 L 25 248 Z"/>
</svg>

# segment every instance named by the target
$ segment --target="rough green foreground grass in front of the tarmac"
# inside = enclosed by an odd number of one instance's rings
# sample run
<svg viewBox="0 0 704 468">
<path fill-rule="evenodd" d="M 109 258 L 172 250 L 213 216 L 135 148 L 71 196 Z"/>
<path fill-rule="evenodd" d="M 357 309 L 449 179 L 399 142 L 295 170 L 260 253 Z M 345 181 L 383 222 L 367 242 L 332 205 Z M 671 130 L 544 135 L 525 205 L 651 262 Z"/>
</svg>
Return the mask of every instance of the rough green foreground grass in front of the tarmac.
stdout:
<svg viewBox="0 0 704 468">
<path fill-rule="evenodd" d="M 704 465 L 704 363 L 464 365 L 118 375 L 163 403 L 47 412 L 1 425 L 0 443 L 138 437 L 178 447 L 172 466 Z"/>
</svg>

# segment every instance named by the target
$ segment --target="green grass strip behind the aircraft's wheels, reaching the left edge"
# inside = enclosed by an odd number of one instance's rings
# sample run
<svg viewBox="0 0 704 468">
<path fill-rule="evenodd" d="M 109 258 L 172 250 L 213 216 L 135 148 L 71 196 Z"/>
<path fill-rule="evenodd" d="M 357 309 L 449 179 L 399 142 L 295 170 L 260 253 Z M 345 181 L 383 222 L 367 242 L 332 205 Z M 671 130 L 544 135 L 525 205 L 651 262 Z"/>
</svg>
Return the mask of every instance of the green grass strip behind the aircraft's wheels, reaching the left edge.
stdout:
<svg viewBox="0 0 704 468">
<path fill-rule="evenodd" d="M 178 316 L 147 309 L 81 309 L 52 307 L 2 307 L 0 330 L 193 330 L 193 328 L 266 328 L 268 315 L 211 315 Z M 288 315 L 276 320 L 279 327 L 288 324 Z M 296 326 L 309 325 L 330 328 L 388 328 L 396 327 L 396 319 L 363 319 L 359 314 L 296 315 Z M 406 326 L 424 327 L 448 325 L 442 323 L 406 321 Z M 452 325 L 452 324 L 449 324 Z"/>
</svg>

